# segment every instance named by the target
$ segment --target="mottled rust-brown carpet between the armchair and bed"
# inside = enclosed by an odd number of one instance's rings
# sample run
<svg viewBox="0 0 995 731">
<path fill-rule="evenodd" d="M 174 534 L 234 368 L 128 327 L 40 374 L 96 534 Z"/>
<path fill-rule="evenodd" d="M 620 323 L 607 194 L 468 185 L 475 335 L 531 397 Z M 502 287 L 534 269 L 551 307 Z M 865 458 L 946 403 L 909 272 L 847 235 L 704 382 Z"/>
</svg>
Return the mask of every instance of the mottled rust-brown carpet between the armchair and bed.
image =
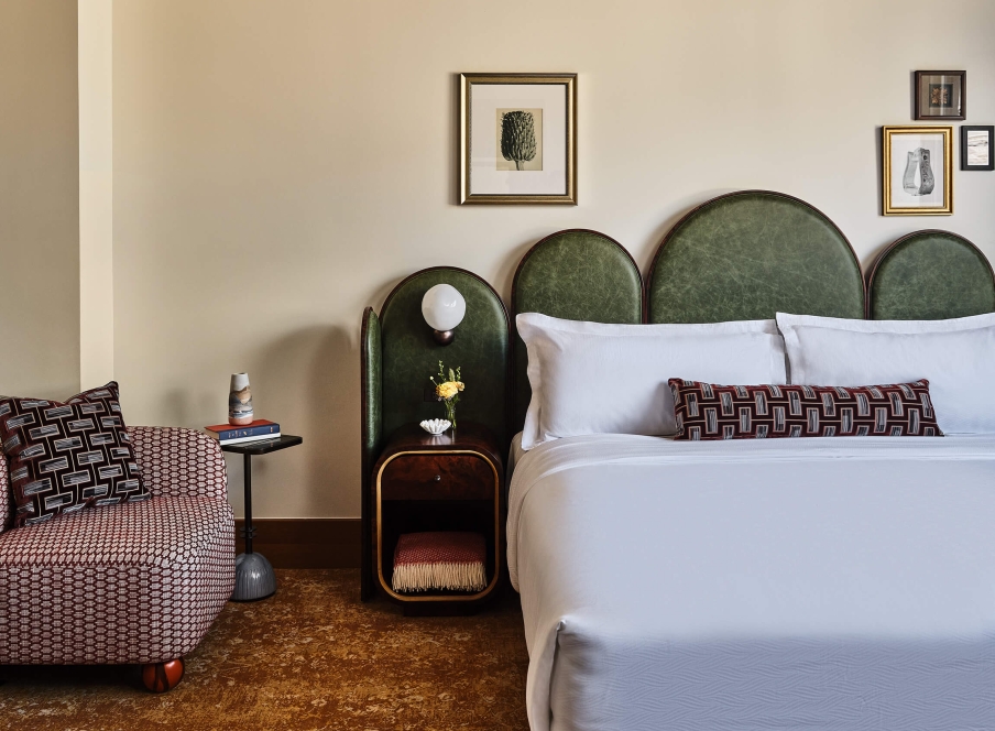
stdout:
<svg viewBox="0 0 995 731">
<path fill-rule="evenodd" d="M 275 597 L 228 603 L 171 692 L 130 667 L 0 667 L 0 728 L 528 728 L 513 591 L 473 617 L 405 618 L 360 602 L 358 570 L 276 574 Z"/>
</svg>

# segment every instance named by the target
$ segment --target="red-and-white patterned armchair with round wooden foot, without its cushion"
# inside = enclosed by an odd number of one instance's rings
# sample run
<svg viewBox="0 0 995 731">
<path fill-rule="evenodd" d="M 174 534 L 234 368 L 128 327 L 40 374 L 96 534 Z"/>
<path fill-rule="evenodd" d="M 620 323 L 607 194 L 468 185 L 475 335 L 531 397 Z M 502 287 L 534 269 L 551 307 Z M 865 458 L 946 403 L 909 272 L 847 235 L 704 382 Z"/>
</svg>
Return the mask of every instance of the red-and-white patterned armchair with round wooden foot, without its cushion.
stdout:
<svg viewBox="0 0 995 731">
<path fill-rule="evenodd" d="M 234 587 L 225 459 L 205 434 L 129 429 L 153 498 L 10 530 L 0 457 L 0 664 L 142 664 L 168 690 Z M 2 504 L 2 503 L 0 503 Z"/>
</svg>

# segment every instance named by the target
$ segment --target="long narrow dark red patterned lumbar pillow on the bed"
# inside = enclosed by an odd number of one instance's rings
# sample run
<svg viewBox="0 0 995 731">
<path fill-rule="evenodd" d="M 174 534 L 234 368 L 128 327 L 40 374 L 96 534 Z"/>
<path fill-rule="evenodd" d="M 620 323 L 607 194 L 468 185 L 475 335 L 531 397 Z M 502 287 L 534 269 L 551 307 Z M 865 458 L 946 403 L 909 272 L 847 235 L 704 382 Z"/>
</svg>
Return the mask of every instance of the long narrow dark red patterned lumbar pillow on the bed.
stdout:
<svg viewBox="0 0 995 731">
<path fill-rule="evenodd" d="M 677 439 L 943 436 L 926 379 L 853 388 L 668 383 Z"/>
</svg>

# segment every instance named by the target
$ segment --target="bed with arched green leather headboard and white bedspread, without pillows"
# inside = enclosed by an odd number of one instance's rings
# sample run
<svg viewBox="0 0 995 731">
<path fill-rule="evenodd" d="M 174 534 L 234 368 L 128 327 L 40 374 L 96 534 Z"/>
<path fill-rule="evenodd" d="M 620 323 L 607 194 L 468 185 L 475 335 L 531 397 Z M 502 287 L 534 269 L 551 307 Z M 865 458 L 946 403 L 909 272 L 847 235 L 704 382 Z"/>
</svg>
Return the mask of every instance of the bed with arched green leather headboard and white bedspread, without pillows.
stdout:
<svg viewBox="0 0 995 731">
<path fill-rule="evenodd" d="M 413 275 L 380 318 L 364 314 L 363 478 L 384 434 L 420 415 L 412 364 L 441 356 L 416 303 L 449 282 L 477 319 L 442 354 L 486 381 L 467 417 L 510 447 L 505 549 L 535 731 L 995 729 L 995 437 L 591 434 L 526 452 L 512 438 L 532 397 L 525 348 L 470 276 Z M 865 281 L 828 217 L 747 190 L 681 219 L 645 283 L 608 236 L 547 237 L 518 265 L 511 314 L 636 325 L 777 312 L 992 313 L 995 277 L 971 242 L 918 231 Z"/>
</svg>

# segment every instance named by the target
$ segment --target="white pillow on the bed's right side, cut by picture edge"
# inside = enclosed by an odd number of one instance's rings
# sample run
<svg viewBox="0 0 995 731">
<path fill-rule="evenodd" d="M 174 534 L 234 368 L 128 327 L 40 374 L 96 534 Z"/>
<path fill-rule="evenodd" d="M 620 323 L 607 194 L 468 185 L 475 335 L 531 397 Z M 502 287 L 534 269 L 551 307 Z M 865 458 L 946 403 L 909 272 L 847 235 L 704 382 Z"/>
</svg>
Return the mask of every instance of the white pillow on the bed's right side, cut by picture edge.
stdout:
<svg viewBox="0 0 995 731">
<path fill-rule="evenodd" d="M 929 380 L 944 434 L 995 433 L 995 314 L 945 320 L 850 320 L 777 313 L 791 383 Z"/>
</svg>

